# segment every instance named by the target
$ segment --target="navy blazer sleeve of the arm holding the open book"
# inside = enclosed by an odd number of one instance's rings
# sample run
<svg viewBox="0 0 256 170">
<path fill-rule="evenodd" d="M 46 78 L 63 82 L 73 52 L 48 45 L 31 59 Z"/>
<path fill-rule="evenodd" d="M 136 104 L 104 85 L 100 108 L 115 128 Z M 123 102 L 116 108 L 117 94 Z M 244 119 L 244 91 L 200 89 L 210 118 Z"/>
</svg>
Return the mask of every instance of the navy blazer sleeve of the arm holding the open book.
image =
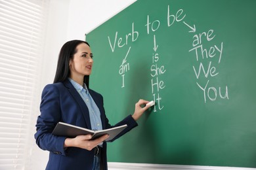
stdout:
<svg viewBox="0 0 256 170">
<path fill-rule="evenodd" d="M 45 86 L 41 96 L 41 115 L 37 118 L 35 141 L 39 148 L 54 154 L 66 155 L 64 141 L 66 137 L 52 135 L 52 131 L 61 119 L 60 92 L 53 84 Z"/>
</svg>

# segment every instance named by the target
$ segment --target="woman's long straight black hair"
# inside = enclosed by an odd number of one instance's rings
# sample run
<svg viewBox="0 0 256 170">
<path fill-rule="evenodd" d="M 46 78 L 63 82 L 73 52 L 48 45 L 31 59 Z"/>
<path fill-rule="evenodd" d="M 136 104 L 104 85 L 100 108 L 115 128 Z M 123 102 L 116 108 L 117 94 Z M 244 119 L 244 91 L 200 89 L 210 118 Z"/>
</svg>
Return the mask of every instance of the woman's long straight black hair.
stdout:
<svg viewBox="0 0 256 170">
<path fill-rule="evenodd" d="M 76 47 L 81 43 L 90 46 L 88 42 L 81 40 L 68 41 L 62 46 L 60 54 L 58 55 L 58 64 L 53 83 L 64 82 L 70 76 L 70 59 L 74 58 L 74 54 L 77 52 Z M 87 88 L 89 88 L 89 75 L 83 78 L 83 82 L 85 82 Z"/>
</svg>

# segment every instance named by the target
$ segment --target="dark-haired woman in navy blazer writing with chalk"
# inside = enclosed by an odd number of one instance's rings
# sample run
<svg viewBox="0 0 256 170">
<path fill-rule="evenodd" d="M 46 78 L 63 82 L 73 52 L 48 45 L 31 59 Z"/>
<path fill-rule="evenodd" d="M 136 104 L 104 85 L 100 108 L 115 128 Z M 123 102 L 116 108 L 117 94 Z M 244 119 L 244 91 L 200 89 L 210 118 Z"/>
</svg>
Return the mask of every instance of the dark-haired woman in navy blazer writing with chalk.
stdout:
<svg viewBox="0 0 256 170">
<path fill-rule="evenodd" d="M 43 89 L 41 114 L 36 124 L 36 143 L 50 152 L 46 169 L 108 169 L 106 142 L 103 142 L 108 135 L 95 140 L 90 140 L 91 135 L 75 138 L 54 136 L 51 132 L 58 122 L 96 130 L 127 124 L 117 139 L 136 127 L 136 120 L 150 107 L 142 108 L 141 105 L 148 101 L 140 99 L 133 115 L 111 126 L 106 118 L 102 95 L 89 89 L 92 68 L 93 54 L 87 42 L 74 40 L 62 46 L 54 83 Z"/>
</svg>

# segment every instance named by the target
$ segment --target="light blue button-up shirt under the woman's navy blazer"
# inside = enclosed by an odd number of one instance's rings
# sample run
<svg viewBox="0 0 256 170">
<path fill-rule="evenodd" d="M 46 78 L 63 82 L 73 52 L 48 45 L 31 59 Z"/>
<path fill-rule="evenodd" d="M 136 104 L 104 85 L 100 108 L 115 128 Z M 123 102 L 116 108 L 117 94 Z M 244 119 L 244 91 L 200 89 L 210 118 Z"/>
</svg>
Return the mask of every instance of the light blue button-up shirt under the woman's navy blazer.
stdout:
<svg viewBox="0 0 256 170">
<path fill-rule="evenodd" d="M 102 123 L 100 119 L 100 110 L 98 109 L 93 97 L 91 97 L 90 93 L 88 92 L 87 86 L 84 83 L 83 86 L 68 78 L 74 88 L 77 90 L 79 95 L 82 97 L 83 101 L 87 105 L 89 109 L 90 121 L 91 121 L 91 129 L 94 131 L 102 130 Z"/>
</svg>

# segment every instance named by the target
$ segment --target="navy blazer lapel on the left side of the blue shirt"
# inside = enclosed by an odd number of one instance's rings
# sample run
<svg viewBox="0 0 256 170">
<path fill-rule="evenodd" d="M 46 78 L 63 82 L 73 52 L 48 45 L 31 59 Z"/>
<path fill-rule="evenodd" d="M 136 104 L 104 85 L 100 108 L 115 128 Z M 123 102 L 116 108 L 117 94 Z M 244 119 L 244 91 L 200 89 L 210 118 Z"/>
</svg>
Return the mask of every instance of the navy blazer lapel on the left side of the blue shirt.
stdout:
<svg viewBox="0 0 256 170">
<path fill-rule="evenodd" d="M 91 121 L 90 121 L 90 115 L 89 110 L 85 102 L 83 101 L 82 97 L 79 95 L 79 93 L 75 90 L 74 86 L 71 84 L 70 80 L 65 80 L 63 82 L 64 86 L 68 89 L 70 94 L 74 97 L 75 101 L 79 105 L 81 112 L 83 116 L 85 117 L 85 122 L 87 124 L 87 128 L 91 129 Z"/>
</svg>

